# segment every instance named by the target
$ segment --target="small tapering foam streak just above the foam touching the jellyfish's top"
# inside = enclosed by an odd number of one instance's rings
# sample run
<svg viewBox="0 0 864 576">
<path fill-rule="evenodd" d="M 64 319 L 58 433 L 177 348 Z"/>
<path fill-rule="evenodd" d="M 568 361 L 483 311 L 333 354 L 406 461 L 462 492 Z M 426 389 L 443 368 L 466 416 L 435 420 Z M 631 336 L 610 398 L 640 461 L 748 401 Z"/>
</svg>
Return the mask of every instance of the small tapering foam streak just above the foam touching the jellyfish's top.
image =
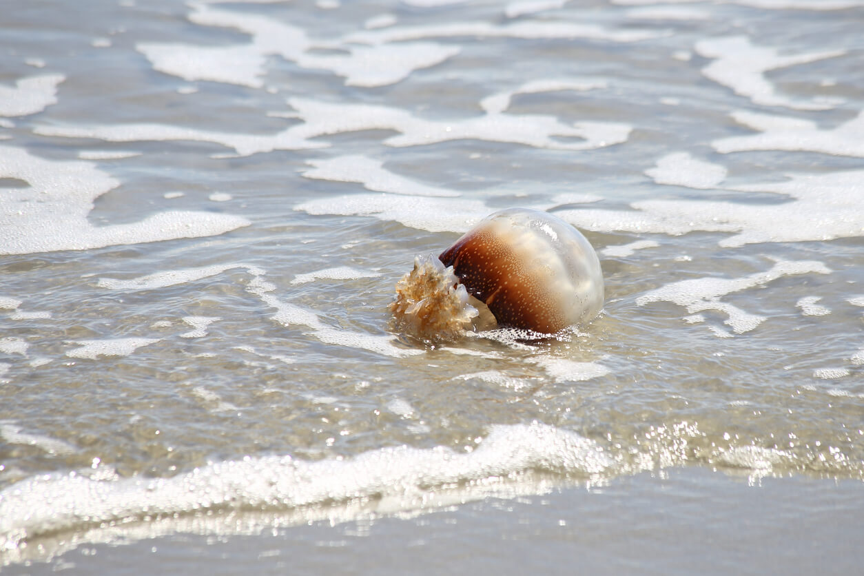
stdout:
<svg viewBox="0 0 864 576">
<path fill-rule="evenodd" d="M 459 196 L 458 192 L 420 184 L 383 168 L 384 162 L 365 155 L 343 155 L 307 161 L 314 168 L 303 170 L 305 178 L 358 182 L 372 192 L 389 192 L 409 196 Z"/>
</svg>

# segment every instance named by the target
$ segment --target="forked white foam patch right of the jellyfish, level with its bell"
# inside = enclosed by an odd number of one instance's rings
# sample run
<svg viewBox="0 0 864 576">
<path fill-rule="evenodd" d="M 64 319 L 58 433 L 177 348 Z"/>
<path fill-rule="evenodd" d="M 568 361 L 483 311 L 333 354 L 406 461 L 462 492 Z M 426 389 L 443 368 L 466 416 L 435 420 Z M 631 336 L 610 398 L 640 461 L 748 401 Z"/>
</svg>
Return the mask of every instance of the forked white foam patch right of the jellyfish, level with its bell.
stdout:
<svg viewBox="0 0 864 576">
<path fill-rule="evenodd" d="M 667 301 L 687 309 L 694 314 L 705 310 L 716 310 L 725 313 L 728 319 L 724 322 L 735 333 L 750 332 L 763 321 L 765 316 L 746 313 L 739 307 L 721 302 L 721 296 L 740 292 L 749 288 L 762 286 L 785 275 L 799 274 L 829 274 L 831 272 L 823 263 L 814 261 L 788 262 L 779 261 L 766 272 L 759 272 L 740 278 L 696 278 L 671 282 L 661 288 L 655 288 L 636 299 L 638 306 L 651 302 Z"/>
</svg>

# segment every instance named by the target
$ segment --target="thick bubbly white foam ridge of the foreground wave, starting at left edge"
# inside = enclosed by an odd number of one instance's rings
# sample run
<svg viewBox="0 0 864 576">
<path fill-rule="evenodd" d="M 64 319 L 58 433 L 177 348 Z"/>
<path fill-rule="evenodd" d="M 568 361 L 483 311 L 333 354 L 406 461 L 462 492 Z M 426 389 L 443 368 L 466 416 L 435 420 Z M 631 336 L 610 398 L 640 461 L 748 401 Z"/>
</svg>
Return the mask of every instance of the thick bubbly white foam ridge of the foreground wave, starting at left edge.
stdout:
<svg viewBox="0 0 864 576">
<path fill-rule="evenodd" d="M 298 510 L 324 503 L 384 501 L 390 510 L 435 505 L 448 486 L 541 470 L 590 476 L 613 465 L 593 440 L 543 424 L 493 426 L 470 453 L 391 446 L 350 459 L 270 456 L 223 461 L 174 478 L 99 480 L 74 472 L 28 478 L 0 491 L 0 550 L 40 535 L 150 517 L 218 510 Z M 446 499 L 446 498 L 444 498 Z"/>
</svg>

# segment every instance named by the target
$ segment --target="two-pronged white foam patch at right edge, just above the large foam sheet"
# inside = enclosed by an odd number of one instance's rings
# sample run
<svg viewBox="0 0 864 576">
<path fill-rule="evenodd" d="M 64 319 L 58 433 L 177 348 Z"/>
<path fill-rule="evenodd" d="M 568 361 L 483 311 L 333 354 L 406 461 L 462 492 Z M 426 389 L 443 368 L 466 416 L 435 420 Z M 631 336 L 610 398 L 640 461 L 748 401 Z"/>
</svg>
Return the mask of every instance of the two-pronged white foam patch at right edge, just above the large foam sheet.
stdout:
<svg viewBox="0 0 864 576">
<path fill-rule="evenodd" d="M 736 111 L 735 122 L 761 134 L 730 136 L 711 142 L 721 154 L 754 150 L 785 150 L 864 158 L 864 111 L 833 129 L 799 118 Z"/>
</svg>

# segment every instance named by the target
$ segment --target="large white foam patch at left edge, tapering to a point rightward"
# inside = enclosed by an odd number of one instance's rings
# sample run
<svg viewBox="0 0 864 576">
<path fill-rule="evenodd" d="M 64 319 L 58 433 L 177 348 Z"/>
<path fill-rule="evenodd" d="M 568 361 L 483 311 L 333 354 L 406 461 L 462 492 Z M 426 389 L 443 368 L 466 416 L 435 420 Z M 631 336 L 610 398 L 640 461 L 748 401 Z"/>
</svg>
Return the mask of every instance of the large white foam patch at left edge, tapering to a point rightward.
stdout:
<svg viewBox="0 0 864 576">
<path fill-rule="evenodd" d="M 49 161 L 23 149 L 0 147 L 0 178 L 29 187 L 0 196 L 0 254 L 90 250 L 116 244 L 215 236 L 249 225 L 245 218 L 211 212 L 157 212 L 138 222 L 94 226 L 93 200 L 119 182 L 85 161 Z"/>
</svg>

